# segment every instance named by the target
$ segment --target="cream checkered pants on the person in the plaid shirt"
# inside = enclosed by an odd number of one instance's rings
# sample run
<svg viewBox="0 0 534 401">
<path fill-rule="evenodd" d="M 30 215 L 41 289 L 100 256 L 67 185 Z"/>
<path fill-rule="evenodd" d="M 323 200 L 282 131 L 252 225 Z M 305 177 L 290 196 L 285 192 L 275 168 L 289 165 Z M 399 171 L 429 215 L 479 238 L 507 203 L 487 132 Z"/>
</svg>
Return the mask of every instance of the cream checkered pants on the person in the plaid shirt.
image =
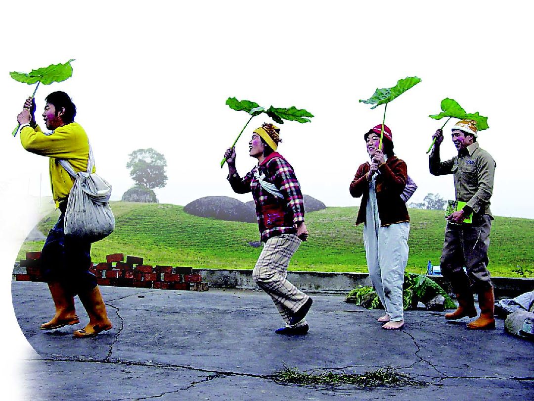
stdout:
<svg viewBox="0 0 534 401">
<path fill-rule="evenodd" d="M 286 326 L 289 326 L 293 313 L 298 311 L 309 298 L 286 280 L 287 266 L 300 243 L 301 240 L 295 234 L 282 234 L 269 238 L 252 272 L 254 281 L 271 296 Z M 302 319 L 292 327 L 307 324 L 306 319 Z"/>
</svg>

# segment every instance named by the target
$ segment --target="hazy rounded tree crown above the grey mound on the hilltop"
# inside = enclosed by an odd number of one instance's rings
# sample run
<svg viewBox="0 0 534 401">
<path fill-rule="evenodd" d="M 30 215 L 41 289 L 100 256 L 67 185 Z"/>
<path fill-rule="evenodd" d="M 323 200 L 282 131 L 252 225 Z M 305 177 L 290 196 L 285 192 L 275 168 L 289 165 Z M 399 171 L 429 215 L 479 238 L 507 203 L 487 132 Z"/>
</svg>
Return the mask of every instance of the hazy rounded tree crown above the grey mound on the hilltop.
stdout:
<svg viewBox="0 0 534 401">
<path fill-rule="evenodd" d="M 152 148 L 137 149 L 130 153 L 126 167 L 130 176 L 140 187 L 146 189 L 163 188 L 167 184 L 165 167 L 167 160 Z"/>
</svg>

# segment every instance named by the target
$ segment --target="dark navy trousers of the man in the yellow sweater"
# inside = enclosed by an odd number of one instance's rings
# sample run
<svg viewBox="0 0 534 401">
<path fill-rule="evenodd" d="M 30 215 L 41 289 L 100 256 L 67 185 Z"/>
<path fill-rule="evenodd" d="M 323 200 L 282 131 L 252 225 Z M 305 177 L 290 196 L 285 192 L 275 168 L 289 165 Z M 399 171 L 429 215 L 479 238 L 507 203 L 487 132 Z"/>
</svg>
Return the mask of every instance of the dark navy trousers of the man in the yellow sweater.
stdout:
<svg viewBox="0 0 534 401">
<path fill-rule="evenodd" d="M 97 279 L 89 272 L 91 243 L 75 241 L 65 236 L 66 202 L 60 204 L 61 215 L 50 230 L 41 252 L 41 274 L 47 282 L 61 283 L 67 292 L 77 295 L 97 286 Z"/>
</svg>

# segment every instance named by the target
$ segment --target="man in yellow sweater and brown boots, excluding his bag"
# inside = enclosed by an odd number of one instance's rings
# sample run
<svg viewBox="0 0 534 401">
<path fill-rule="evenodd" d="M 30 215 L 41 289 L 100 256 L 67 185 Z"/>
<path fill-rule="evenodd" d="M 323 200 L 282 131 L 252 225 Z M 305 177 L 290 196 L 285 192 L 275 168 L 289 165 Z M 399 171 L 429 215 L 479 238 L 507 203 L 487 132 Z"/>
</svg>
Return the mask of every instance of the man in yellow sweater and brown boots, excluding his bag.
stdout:
<svg viewBox="0 0 534 401">
<path fill-rule="evenodd" d="M 76 106 L 65 92 L 52 92 L 45 101 L 43 119 L 51 132 L 43 133 L 35 122 L 36 106 L 32 98 L 26 100 L 17 117 L 22 147 L 50 158 L 52 196 L 61 212 L 41 252 L 41 271 L 56 305 L 56 314 L 43 323 L 41 329 L 53 330 L 79 323 L 74 307 L 74 296 L 78 295 L 89 315 L 89 323 L 84 329 L 75 330 L 74 337 L 92 337 L 111 329 L 112 323 L 107 317 L 96 277 L 89 272 L 91 243 L 73 240 L 63 231 L 67 199 L 74 180 L 59 164 L 60 159 L 65 159 L 76 172 L 87 171 L 89 141 L 82 126 L 74 122 Z"/>
</svg>

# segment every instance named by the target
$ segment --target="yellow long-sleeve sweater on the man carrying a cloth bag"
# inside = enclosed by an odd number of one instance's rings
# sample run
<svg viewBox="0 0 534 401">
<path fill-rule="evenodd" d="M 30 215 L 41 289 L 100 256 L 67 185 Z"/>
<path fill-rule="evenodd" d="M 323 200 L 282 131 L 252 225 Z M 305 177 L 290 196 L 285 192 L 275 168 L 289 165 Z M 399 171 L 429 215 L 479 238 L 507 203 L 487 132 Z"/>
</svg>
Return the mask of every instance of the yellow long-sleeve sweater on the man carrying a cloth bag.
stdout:
<svg viewBox="0 0 534 401">
<path fill-rule="evenodd" d="M 20 143 L 28 152 L 50 157 L 50 185 L 57 207 L 68 198 L 74 183 L 58 159 L 67 160 L 76 172 L 87 171 L 89 141 L 85 130 L 77 122 L 58 127 L 51 134 L 44 134 L 39 126 L 26 126 L 20 132 Z"/>
</svg>

